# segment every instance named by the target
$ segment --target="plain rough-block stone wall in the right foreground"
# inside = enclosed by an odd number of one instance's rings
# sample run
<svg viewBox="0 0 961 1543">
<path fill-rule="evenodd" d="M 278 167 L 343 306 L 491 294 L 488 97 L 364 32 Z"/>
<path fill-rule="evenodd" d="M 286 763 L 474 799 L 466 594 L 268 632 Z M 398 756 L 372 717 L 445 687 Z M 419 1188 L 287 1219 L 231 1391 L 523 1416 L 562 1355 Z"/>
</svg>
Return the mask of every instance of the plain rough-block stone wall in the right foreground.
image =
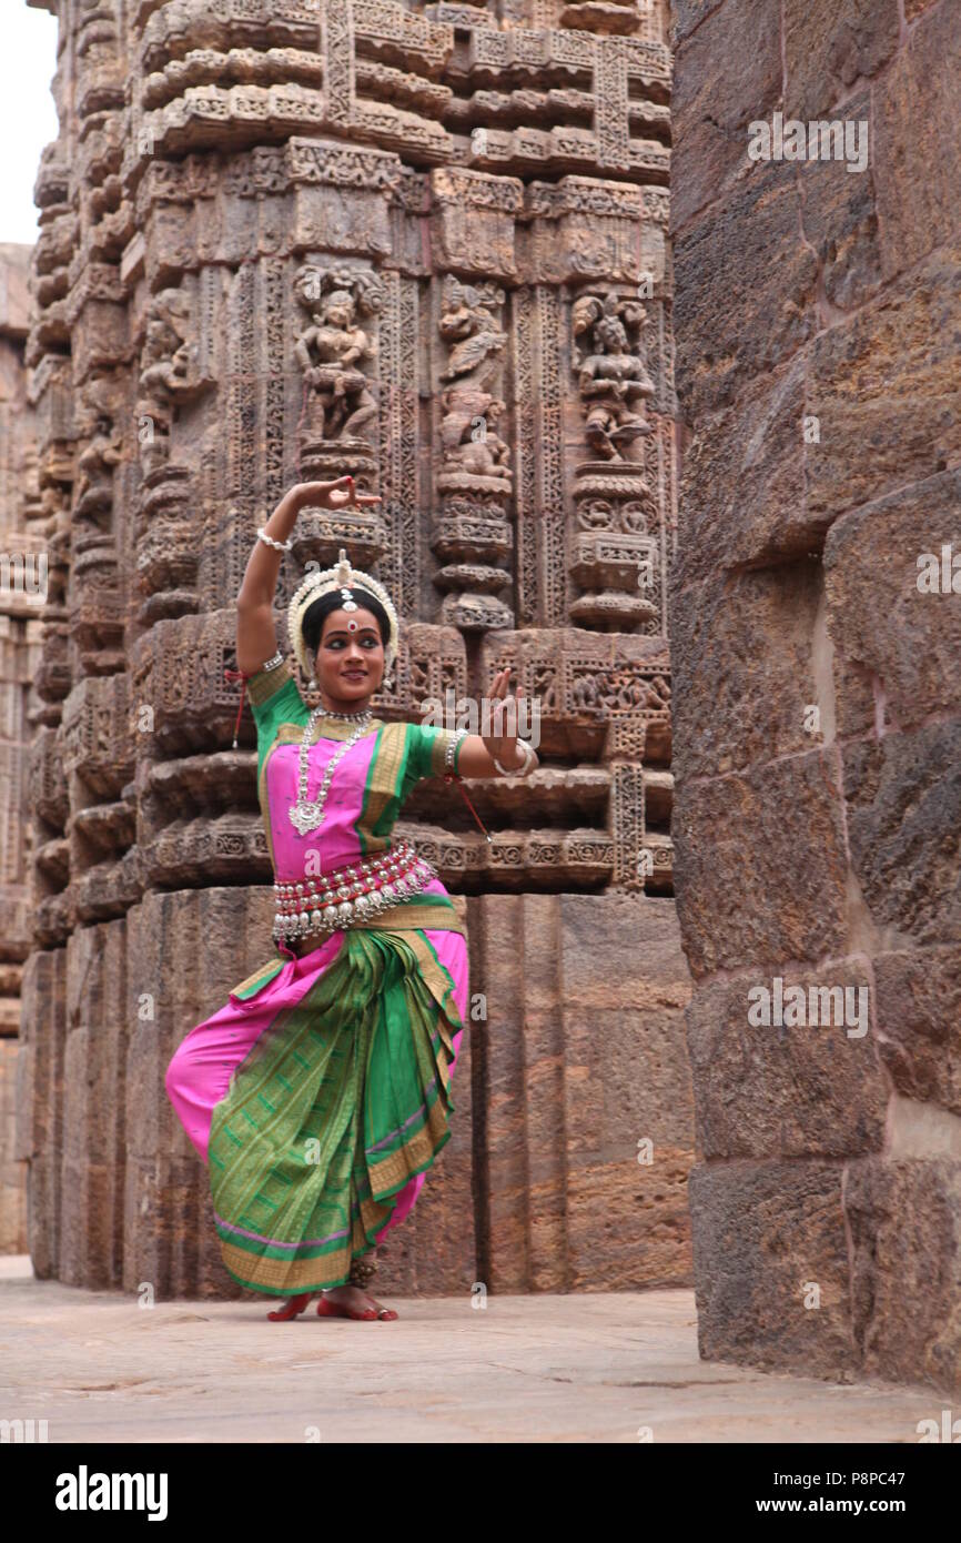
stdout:
<svg viewBox="0 0 961 1543">
<path fill-rule="evenodd" d="M 956 1392 L 961 3 L 674 17 L 700 1347 Z M 774 113 L 865 123 L 867 164 L 751 160 Z"/>
</svg>

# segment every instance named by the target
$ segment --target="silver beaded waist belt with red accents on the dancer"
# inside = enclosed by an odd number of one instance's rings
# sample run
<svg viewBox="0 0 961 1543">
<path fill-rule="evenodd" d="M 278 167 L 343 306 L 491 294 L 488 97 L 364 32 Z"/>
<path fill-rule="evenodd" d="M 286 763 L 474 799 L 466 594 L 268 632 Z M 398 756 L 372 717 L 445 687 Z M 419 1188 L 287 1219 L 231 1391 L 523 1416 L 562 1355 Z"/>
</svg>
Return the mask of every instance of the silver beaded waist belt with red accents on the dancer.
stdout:
<svg viewBox="0 0 961 1543">
<path fill-rule="evenodd" d="M 319 878 L 275 884 L 273 941 L 336 932 L 369 921 L 401 900 L 420 895 L 437 878 L 437 869 L 415 849 L 401 842 L 393 852 L 335 869 Z"/>
</svg>

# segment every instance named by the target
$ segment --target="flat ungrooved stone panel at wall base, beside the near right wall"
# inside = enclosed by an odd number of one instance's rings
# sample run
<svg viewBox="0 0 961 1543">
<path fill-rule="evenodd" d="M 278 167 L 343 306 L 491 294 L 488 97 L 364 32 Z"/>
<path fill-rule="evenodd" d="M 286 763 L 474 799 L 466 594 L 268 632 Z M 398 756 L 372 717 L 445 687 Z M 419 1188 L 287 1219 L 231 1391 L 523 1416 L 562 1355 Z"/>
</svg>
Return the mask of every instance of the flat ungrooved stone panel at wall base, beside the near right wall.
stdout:
<svg viewBox="0 0 961 1543">
<path fill-rule="evenodd" d="M 612 898 L 605 909 L 608 917 L 578 896 L 561 903 L 574 1290 L 679 1282 L 691 1271 L 693 1103 L 682 1029 L 690 978 L 674 907 Z"/>
</svg>

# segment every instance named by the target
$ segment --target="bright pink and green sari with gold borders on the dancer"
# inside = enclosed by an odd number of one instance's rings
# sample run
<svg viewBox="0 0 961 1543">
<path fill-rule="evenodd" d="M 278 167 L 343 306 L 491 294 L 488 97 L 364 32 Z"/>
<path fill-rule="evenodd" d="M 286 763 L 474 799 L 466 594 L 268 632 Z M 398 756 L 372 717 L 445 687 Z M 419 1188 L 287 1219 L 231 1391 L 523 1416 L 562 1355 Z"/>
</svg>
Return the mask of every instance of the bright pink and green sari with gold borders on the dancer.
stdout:
<svg viewBox="0 0 961 1543">
<path fill-rule="evenodd" d="M 305 708 L 287 665 L 248 682 L 258 793 L 278 883 L 390 849 L 450 734 L 373 721 L 336 765 L 324 824 L 301 836 L 296 755 Z M 321 721 L 309 798 L 350 733 Z M 305 864 L 313 859 L 313 867 Z M 450 1136 L 450 1079 L 467 1012 L 467 949 L 432 880 L 364 926 L 296 958 L 284 944 L 182 1040 L 170 1100 L 208 1163 L 221 1253 L 244 1285 L 292 1296 L 339 1285 L 413 1208 Z"/>
</svg>

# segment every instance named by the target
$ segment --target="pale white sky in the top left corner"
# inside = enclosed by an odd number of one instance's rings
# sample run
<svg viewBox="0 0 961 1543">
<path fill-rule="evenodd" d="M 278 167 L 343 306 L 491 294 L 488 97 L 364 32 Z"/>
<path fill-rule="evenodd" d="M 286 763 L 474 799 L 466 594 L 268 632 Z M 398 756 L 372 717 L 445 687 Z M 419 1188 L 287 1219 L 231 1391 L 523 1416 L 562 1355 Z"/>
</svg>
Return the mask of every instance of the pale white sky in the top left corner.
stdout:
<svg viewBox="0 0 961 1543">
<path fill-rule="evenodd" d="M 59 130 L 56 68 L 57 19 L 26 0 L 0 0 L 0 242 L 37 239 L 34 182 Z"/>
</svg>

